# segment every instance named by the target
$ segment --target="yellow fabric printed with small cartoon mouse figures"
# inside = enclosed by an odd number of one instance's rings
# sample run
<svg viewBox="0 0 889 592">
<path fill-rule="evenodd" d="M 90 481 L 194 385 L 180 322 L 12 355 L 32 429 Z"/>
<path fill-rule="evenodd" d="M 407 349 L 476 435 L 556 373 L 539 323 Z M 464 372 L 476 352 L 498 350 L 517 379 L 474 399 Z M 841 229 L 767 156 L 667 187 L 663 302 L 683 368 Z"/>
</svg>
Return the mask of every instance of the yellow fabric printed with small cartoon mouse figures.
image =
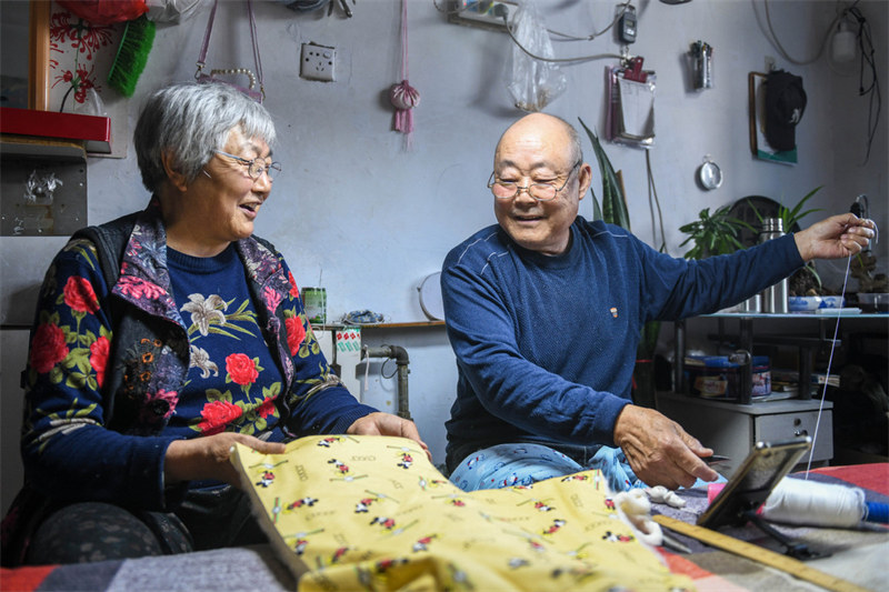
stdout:
<svg viewBox="0 0 889 592">
<path fill-rule="evenodd" d="M 598 471 L 463 492 L 411 440 L 309 437 L 232 462 L 300 591 L 691 590 Z"/>
</svg>

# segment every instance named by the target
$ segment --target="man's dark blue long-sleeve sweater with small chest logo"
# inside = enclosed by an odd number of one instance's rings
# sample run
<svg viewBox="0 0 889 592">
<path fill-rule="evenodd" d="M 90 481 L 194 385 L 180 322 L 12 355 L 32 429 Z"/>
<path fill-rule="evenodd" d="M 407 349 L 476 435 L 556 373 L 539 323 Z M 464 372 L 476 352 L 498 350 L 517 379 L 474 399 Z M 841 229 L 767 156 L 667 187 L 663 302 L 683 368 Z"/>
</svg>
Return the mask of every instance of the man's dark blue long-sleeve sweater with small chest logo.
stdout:
<svg viewBox="0 0 889 592">
<path fill-rule="evenodd" d="M 646 322 L 736 304 L 802 264 L 790 234 L 688 261 L 580 217 L 557 257 L 521 248 L 496 224 L 477 232 L 441 273 L 459 374 L 448 465 L 503 442 L 613 445 Z"/>
</svg>

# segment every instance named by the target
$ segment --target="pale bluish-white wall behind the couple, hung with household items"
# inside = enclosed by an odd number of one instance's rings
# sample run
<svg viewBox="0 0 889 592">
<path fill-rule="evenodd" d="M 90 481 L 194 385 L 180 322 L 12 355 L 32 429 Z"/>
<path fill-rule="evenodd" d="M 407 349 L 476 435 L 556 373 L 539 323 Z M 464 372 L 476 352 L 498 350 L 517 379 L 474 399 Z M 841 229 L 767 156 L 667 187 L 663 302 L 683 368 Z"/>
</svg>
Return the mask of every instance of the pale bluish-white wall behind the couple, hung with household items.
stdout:
<svg viewBox="0 0 889 592">
<path fill-rule="evenodd" d="M 443 7 L 446 0 L 438 3 Z M 616 4 L 589 0 L 539 3 L 546 8 L 549 28 L 578 36 L 603 29 Z M 879 73 L 885 74 L 888 4 L 866 0 L 858 6 L 871 24 Z M 883 113 L 870 161 L 862 165 L 867 106 L 866 99 L 857 97 L 857 76 L 837 74 L 823 58 L 810 66 L 783 60 L 760 26 L 765 21 L 761 0 L 693 0 L 680 6 L 639 0 L 637 7 L 639 37 L 630 49 L 646 59 L 647 69 L 657 71 L 657 140 L 650 158 L 670 253 L 681 254 L 678 244 L 685 237 L 678 228 L 696 219 L 702 208 L 716 209 L 749 194 L 793 204 L 819 184 L 825 189 L 812 200 L 813 207 L 847 211 L 855 195 L 865 192 L 871 198 L 872 217 L 889 229 L 889 113 Z M 769 7 L 781 44 L 800 58 L 817 51 L 836 4 L 772 0 Z M 371 309 L 392 321 L 424 320 L 416 287 L 440 268 L 450 248 L 495 222 L 485 182 L 495 143 L 521 114 L 511 106 L 503 83 L 509 38 L 448 23 L 431 0 L 409 1 L 409 80 L 420 91 L 421 102 L 414 110 L 413 149 L 404 151 L 403 138 L 392 131 L 392 108 L 387 99 L 388 88 L 400 80 L 398 0 L 360 0 L 351 19 L 338 17 L 338 12 L 328 18 L 326 10 L 298 13 L 269 1 L 254 2 L 254 9 L 266 106 L 281 139 L 276 159 L 284 167 L 257 232 L 283 251 L 301 285 L 314 285 L 322 278 L 329 318 Z M 241 11 L 240 4 L 229 2 L 220 8 L 210 66 L 250 66 Z M 130 129 L 149 92 L 170 81 L 191 79 L 208 13 L 209 6 L 204 6 L 183 23 L 159 29 L 137 94 L 127 107 Z M 703 92 L 690 90 L 685 67 L 690 44 L 699 39 L 715 48 L 716 87 Z M 300 44 L 309 41 L 337 48 L 336 82 L 299 78 Z M 555 48 L 559 57 L 619 50 L 611 34 L 586 42 L 557 41 Z M 767 56 L 775 57 L 778 67 L 801 76 L 809 98 L 797 132 L 800 162 L 795 167 L 755 160 L 748 148 L 747 74 L 762 71 Z M 587 61 L 563 67 L 568 90 L 546 110 L 571 122 L 580 117 L 601 129 L 603 70 L 613 63 Z M 885 80 L 880 82 L 886 87 Z M 591 158 L 586 141 L 585 149 Z M 633 230 L 650 241 L 645 153 L 616 144 L 606 144 L 606 149 L 615 168 L 623 171 Z M 725 173 L 725 183 L 716 191 L 703 191 L 695 182 L 705 154 Z M 593 183 L 600 187 L 598 174 Z M 147 199 L 132 151 L 123 160 L 90 160 L 90 223 L 140 209 Z M 591 213 L 586 200 L 581 214 Z M 59 242 L 4 239 L 7 285 L 39 282 Z M 885 265 L 889 260 L 887 241 L 877 249 Z M 27 269 L 20 265 L 10 274 L 10 261 L 22 258 L 29 258 Z M 456 382 L 443 331 L 374 339 L 404 345 L 411 360 L 418 360 L 410 374 L 412 411 L 436 462 L 441 462 L 443 422 Z M 423 360 L 422 367 L 419 360 Z M 9 368 L 8 361 L 4 353 L 3 373 L 17 373 L 20 369 Z M 3 394 L 4 400 L 14 394 Z M 4 411 L 4 431 L 13 429 Z M 6 481 L 6 462 L 3 466 Z"/>
</svg>

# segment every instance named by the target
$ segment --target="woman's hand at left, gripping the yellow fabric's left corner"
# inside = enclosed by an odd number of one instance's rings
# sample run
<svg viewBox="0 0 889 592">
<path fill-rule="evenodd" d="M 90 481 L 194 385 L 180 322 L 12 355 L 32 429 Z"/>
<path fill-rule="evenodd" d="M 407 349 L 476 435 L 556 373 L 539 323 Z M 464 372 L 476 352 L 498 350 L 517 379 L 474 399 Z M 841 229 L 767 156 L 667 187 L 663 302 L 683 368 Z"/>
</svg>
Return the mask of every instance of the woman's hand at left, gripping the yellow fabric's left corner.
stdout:
<svg viewBox="0 0 889 592">
<path fill-rule="evenodd" d="M 240 478 L 229 461 L 231 446 L 239 442 L 263 454 L 283 454 L 280 442 L 264 442 L 252 435 L 222 432 L 213 435 L 174 440 L 163 459 L 163 479 L 168 484 L 199 479 L 216 479 L 240 488 Z"/>
</svg>

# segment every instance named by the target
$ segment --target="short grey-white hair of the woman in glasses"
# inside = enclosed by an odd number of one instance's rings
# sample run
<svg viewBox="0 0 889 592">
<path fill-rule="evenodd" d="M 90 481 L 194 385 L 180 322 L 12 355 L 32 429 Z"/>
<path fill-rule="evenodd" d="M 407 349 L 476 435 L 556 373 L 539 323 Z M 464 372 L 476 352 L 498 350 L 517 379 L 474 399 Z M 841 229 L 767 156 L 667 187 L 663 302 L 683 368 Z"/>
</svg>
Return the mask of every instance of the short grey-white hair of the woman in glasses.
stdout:
<svg viewBox="0 0 889 592">
<path fill-rule="evenodd" d="M 167 179 L 163 153 L 173 170 L 193 181 L 238 127 L 247 138 L 274 143 L 274 123 L 266 108 L 229 84 L 188 82 L 154 92 L 133 131 L 142 183 L 154 192 Z"/>
</svg>

